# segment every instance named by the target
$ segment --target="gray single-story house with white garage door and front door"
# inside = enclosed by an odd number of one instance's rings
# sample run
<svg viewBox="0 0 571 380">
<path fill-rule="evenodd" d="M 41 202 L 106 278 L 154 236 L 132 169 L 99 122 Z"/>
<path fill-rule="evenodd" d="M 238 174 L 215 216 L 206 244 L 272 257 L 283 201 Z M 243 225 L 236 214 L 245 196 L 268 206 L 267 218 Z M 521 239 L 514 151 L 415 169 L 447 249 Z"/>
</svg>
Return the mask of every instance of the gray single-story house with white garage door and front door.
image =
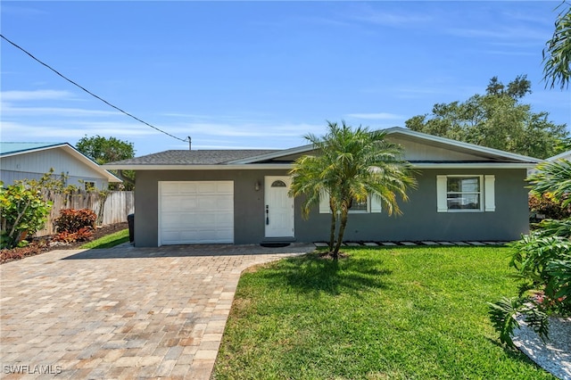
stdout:
<svg viewBox="0 0 571 380">
<path fill-rule="evenodd" d="M 369 200 L 351 211 L 346 241 L 509 241 L 528 232 L 526 169 L 540 160 L 389 128 L 404 147 L 418 189 L 389 217 Z M 312 145 L 285 150 L 166 151 L 104 165 L 136 169 L 135 244 L 259 244 L 327 241 L 327 200 L 302 219 L 288 197 L 292 162 Z"/>
</svg>

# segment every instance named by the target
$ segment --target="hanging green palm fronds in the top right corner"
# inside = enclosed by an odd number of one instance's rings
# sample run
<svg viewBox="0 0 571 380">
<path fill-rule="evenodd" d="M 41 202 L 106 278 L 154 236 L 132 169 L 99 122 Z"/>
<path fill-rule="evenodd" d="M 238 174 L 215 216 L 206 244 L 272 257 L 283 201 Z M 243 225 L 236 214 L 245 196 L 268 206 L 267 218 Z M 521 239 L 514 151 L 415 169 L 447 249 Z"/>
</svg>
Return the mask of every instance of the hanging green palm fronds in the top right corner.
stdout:
<svg viewBox="0 0 571 380">
<path fill-rule="evenodd" d="M 553 36 L 543 49 L 543 80 L 546 86 L 553 88 L 559 83 L 564 89 L 571 80 L 571 5 L 564 1 L 559 7 Z"/>
</svg>

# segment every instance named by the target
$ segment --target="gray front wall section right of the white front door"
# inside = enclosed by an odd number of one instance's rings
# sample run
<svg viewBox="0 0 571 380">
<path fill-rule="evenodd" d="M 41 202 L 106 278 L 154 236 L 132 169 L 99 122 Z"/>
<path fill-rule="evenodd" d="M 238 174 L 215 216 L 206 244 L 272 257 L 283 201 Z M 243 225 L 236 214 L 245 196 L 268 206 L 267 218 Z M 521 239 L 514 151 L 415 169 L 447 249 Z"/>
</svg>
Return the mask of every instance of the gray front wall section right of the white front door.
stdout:
<svg viewBox="0 0 571 380">
<path fill-rule="evenodd" d="M 437 212 L 437 175 L 495 175 L 495 211 Z M 350 214 L 347 241 L 479 240 L 511 241 L 529 232 L 525 169 L 426 169 L 417 176 L 418 189 L 409 202 L 399 202 L 401 216 Z M 296 215 L 296 219 L 298 215 Z M 299 241 L 327 241 L 330 214 L 310 215 L 310 223 L 296 220 Z M 303 227 L 298 228 L 303 223 Z"/>
</svg>

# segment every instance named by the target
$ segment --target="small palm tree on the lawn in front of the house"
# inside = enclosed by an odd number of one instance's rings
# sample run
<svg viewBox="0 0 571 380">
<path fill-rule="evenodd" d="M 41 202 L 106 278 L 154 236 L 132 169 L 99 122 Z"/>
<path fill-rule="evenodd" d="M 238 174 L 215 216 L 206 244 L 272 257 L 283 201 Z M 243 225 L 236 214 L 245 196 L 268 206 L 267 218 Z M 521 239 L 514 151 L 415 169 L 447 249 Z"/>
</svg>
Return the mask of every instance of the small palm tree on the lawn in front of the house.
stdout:
<svg viewBox="0 0 571 380">
<path fill-rule="evenodd" d="M 361 127 L 353 130 L 344 121 L 341 126 L 327 122 L 327 128 L 325 136 L 305 136 L 315 154 L 294 162 L 290 195 L 305 195 L 304 218 L 320 197 L 329 195 L 329 251 L 337 260 L 352 203 L 375 197 L 389 215 L 401 214 L 397 195 L 407 201 L 406 190 L 416 187 L 416 179 L 410 174 L 410 163 L 401 160 L 401 145 L 385 141 L 385 132 Z"/>
</svg>

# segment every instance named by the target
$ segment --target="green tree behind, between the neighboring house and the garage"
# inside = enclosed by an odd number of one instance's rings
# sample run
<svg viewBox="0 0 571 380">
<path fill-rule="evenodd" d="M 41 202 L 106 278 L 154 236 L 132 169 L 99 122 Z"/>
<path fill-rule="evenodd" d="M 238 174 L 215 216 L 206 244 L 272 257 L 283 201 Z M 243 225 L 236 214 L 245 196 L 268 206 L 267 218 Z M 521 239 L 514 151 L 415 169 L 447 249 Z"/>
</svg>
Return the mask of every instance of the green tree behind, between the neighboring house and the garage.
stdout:
<svg viewBox="0 0 571 380">
<path fill-rule="evenodd" d="M 99 165 L 135 157 L 133 143 L 121 141 L 115 137 L 84 136 L 79 139 L 75 147 Z M 131 190 L 135 186 L 135 172 L 133 170 L 117 170 L 116 174 L 124 181 L 125 189 Z"/>
</svg>

